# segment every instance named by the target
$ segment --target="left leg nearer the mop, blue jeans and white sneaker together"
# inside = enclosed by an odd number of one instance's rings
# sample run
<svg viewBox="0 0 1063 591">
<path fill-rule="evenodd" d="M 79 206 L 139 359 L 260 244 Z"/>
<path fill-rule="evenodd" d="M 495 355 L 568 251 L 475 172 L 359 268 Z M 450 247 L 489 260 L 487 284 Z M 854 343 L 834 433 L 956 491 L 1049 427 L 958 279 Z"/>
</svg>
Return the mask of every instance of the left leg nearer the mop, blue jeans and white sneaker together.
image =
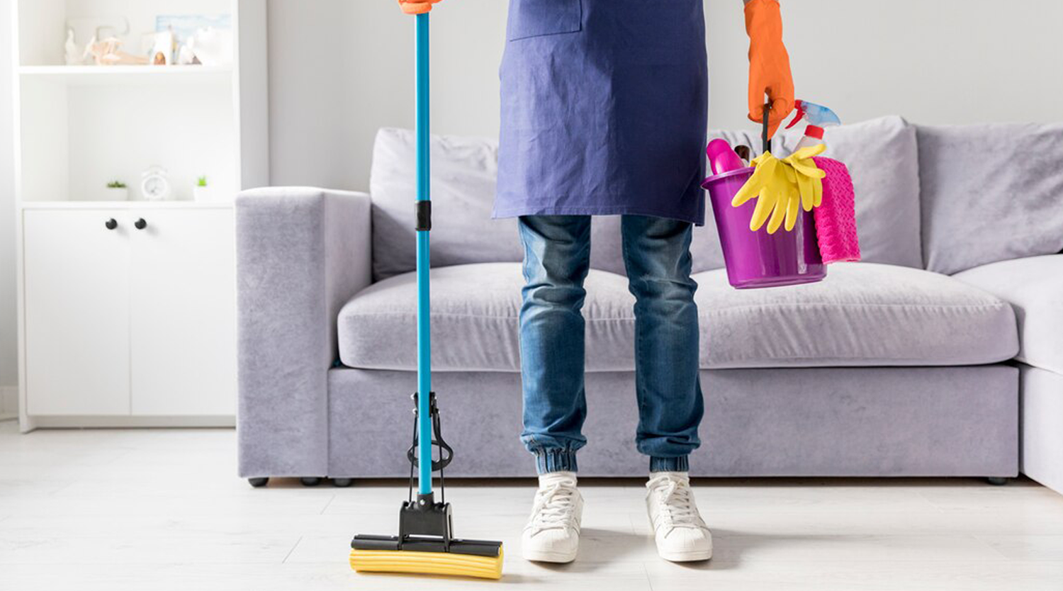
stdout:
<svg viewBox="0 0 1063 591">
<path fill-rule="evenodd" d="M 524 433 L 539 490 L 521 537 L 524 558 L 570 562 L 579 546 L 583 497 L 576 451 L 587 442 L 584 391 L 584 280 L 590 268 L 588 216 L 520 219 L 524 244 L 521 375 Z"/>
</svg>

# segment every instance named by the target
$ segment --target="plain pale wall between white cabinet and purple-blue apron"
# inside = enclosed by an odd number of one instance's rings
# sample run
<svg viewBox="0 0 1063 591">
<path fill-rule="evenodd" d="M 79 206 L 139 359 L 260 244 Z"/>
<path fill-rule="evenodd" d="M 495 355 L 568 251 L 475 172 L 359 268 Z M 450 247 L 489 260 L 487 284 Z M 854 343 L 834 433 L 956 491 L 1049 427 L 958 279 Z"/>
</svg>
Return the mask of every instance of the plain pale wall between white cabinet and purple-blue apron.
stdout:
<svg viewBox="0 0 1063 591">
<path fill-rule="evenodd" d="M 432 22 L 433 129 L 497 135 L 507 2 L 444 4 Z M 393 0 L 270 0 L 269 35 L 273 184 L 368 188 L 376 130 L 414 125 L 412 19 Z"/>
</svg>

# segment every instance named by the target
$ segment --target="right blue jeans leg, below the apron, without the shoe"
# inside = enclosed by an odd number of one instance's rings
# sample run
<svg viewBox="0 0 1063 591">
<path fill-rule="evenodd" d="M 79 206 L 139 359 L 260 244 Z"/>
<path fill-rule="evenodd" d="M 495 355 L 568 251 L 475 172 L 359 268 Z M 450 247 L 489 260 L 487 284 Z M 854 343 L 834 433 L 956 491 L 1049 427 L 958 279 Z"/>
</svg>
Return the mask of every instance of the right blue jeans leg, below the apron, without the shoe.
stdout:
<svg viewBox="0 0 1063 591">
<path fill-rule="evenodd" d="M 686 472 L 701 444 L 697 283 L 690 277 L 691 224 L 624 216 L 624 263 L 635 294 L 636 442 L 651 472 Z"/>
</svg>

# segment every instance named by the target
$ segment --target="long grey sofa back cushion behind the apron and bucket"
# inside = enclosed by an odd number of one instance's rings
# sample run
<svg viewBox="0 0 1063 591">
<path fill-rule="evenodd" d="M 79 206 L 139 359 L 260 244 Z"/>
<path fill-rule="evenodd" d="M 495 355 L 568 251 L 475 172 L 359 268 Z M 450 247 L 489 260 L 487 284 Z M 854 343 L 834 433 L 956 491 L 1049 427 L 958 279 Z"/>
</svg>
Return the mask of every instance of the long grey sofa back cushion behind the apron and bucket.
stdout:
<svg viewBox="0 0 1063 591">
<path fill-rule="evenodd" d="M 789 152 L 800 139 L 798 125 L 782 134 Z M 919 237 L 918 151 L 915 130 L 900 117 L 883 117 L 829 130 L 832 155 L 848 164 L 857 189 L 857 225 L 864 259 L 923 267 Z M 759 151 L 756 132 L 716 132 L 732 143 Z M 370 192 L 373 199 L 373 270 L 376 281 L 416 266 L 414 201 L 416 138 L 408 130 L 383 129 L 376 137 Z M 434 267 L 521 260 L 517 221 L 492 220 L 497 174 L 496 142 L 484 138 L 433 136 L 432 234 Z M 694 229 L 694 272 L 724 266 L 711 208 Z M 591 267 L 624 273 L 620 218 L 595 217 Z"/>
</svg>

